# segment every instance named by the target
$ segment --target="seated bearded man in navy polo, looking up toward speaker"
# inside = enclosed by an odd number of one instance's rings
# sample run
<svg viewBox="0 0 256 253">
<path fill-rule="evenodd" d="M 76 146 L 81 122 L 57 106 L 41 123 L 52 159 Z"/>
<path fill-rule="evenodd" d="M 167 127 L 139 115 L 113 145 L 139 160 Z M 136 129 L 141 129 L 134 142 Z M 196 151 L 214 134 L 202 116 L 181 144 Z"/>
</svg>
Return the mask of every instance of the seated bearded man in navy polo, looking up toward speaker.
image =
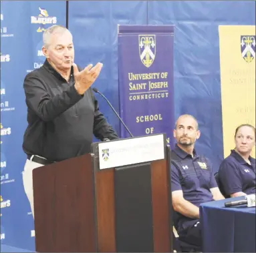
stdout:
<svg viewBox="0 0 256 253">
<path fill-rule="evenodd" d="M 178 117 L 174 130 L 177 144 L 171 152 L 174 226 L 179 240 L 201 250 L 199 205 L 224 197 L 215 181 L 211 163 L 195 151 L 195 142 L 199 137 L 195 117 L 187 114 Z"/>
</svg>

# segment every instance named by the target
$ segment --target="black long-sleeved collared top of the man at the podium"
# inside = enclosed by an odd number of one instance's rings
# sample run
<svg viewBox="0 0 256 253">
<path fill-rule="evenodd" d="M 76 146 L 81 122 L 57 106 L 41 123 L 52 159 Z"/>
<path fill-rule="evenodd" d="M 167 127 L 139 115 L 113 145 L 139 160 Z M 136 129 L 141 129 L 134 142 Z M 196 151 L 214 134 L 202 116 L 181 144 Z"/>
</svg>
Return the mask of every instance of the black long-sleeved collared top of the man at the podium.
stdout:
<svg viewBox="0 0 256 253">
<path fill-rule="evenodd" d="M 74 84 L 73 67 L 68 82 L 47 60 L 25 77 L 26 154 L 58 162 L 90 153 L 93 134 L 99 140 L 118 139 L 99 111 L 92 89 L 80 95 Z"/>
</svg>

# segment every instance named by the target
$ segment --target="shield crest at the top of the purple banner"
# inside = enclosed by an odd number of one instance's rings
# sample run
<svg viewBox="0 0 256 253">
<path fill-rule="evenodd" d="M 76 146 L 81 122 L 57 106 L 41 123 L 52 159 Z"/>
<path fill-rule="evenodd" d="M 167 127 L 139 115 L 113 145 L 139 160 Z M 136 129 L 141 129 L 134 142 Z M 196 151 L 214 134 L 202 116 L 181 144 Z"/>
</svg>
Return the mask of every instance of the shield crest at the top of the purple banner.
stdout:
<svg viewBox="0 0 256 253">
<path fill-rule="evenodd" d="M 140 60 L 150 67 L 156 57 L 156 35 L 138 35 Z"/>
</svg>

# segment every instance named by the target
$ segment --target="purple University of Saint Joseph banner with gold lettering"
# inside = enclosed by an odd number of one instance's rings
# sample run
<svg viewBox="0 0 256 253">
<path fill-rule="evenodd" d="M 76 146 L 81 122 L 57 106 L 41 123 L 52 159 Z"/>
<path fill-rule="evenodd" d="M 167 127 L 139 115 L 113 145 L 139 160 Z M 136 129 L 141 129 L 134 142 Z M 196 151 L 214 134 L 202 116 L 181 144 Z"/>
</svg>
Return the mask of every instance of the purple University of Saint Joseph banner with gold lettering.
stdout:
<svg viewBox="0 0 256 253">
<path fill-rule="evenodd" d="M 120 115 L 134 136 L 166 133 L 173 146 L 174 85 L 172 25 L 120 25 Z M 122 138 L 129 137 L 121 125 Z"/>
</svg>

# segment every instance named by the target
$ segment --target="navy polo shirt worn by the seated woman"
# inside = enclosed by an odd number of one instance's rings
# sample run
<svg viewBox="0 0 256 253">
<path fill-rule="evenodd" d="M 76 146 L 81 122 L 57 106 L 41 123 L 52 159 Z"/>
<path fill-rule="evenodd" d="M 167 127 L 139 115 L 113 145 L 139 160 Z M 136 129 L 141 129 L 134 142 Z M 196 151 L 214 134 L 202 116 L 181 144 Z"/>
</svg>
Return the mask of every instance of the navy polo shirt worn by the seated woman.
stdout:
<svg viewBox="0 0 256 253">
<path fill-rule="evenodd" d="M 219 168 L 219 179 L 225 194 L 255 194 L 255 159 L 250 156 L 249 161 L 251 165 L 247 164 L 235 150 L 231 150 L 231 154 L 223 160 Z"/>
</svg>

